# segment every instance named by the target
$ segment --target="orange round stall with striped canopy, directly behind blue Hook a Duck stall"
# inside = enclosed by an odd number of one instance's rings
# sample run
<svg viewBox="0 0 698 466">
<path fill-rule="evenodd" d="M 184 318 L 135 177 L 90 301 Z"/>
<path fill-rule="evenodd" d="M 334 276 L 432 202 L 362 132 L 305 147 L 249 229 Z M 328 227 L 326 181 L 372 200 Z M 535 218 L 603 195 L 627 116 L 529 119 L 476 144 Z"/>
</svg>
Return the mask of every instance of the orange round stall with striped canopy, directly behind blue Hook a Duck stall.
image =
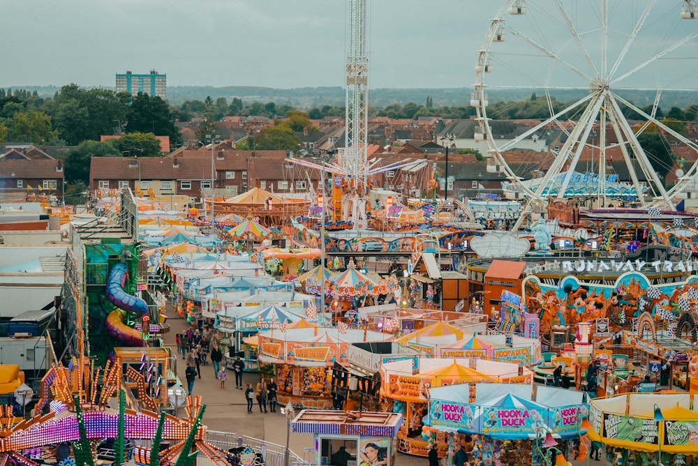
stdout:
<svg viewBox="0 0 698 466">
<path fill-rule="evenodd" d="M 471 368 L 470 366 L 474 366 Z M 398 449 L 411 455 L 426 456 L 427 446 L 436 439 L 440 456 L 446 454 L 443 434 L 431 439 L 423 420 L 429 403 L 429 390 L 438 386 L 458 386 L 460 393 L 470 393 L 475 400 L 475 384 L 479 382 L 507 384 L 533 383 L 533 373 L 517 364 L 477 359 L 403 359 L 383 363 L 380 369 L 383 410 L 399 412 L 405 423 L 398 433 Z"/>
</svg>

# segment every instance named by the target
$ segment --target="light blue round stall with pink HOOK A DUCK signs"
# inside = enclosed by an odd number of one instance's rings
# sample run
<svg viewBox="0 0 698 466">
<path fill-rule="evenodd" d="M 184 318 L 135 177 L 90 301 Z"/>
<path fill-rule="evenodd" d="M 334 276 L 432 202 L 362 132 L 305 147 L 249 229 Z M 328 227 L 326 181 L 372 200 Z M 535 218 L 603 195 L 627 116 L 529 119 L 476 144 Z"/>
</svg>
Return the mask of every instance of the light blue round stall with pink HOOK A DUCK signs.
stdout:
<svg viewBox="0 0 698 466">
<path fill-rule="evenodd" d="M 437 433 L 445 435 L 448 460 L 463 442 L 461 437 L 469 435 L 471 459 L 478 464 L 550 464 L 544 455 L 552 446 L 573 451 L 574 444 L 559 442 L 581 441 L 584 435 L 584 392 L 537 386 L 534 398 L 532 386 L 515 384 L 476 384 L 474 391 L 474 400 L 472 393 L 453 386 L 430 391 L 426 433 L 435 439 Z"/>
</svg>

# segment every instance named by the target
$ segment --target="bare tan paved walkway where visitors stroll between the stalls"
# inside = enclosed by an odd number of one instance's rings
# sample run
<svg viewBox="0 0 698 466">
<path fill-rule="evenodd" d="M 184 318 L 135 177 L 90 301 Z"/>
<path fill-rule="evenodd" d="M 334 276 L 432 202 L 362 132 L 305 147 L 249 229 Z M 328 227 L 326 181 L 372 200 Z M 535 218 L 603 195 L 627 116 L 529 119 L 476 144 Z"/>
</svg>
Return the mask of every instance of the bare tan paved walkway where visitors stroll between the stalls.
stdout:
<svg viewBox="0 0 698 466">
<path fill-rule="evenodd" d="M 172 348 L 173 354 L 176 353 L 174 347 L 174 336 L 181 331 L 186 330 L 189 324 L 184 319 L 168 318 L 170 324 L 170 333 L 165 334 L 165 345 Z M 225 389 L 220 388 L 220 382 L 214 375 L 213 366 L 208 359 L 207 366 L 200 366 L 201 378 L 197 378 L 194 382 L 194 394 L 202 396 L 202 401 L 206 405 L 203 423 L 209 430 L 219 430 L 222 432 L 235 433 L 237 435 L 247 435 L 263 439 L 265 442 L 284 445 L 286 444 L 286 422 L 285 417 L 281 414 L 281 410 L 277 408 L 276 413 L 267 412 L 260 413 L 258 405 L 255 404 L 253 413 L 247 413 L 247 403 L 244 399 L 244 390 L 235 389 L 235 375 L 229 371 L 228 380 L 225 382 Z M 186 388 L 186 380 L 184 370 L 186 365 L 181 359 L 181 353 L 177 360 L 177 375 L 184 382 Z M 253 373 L 245 373 L 243 376 L 244 384 L 253 384 L 255 386 L 259 381 L 259 375 Z M 180 408 L 181 414 L 184 415 L 184 408 Z M 314 456 L 313 435 L 312 434 L 290 434 L 290 449 L 297 453 L 298 456 L 311 462 Z M 307 450 L 306 450 L 307 449 Z M 529 460 L 530 462 L 530 460 Z M 424 466 L 429 464 L 429 460 L 418 456 L 405 455 L 398 453 L 397 465 L 399 466 Z M 521 465 L 526 464 L 520 463 Z M 572 461 L 572 465 L 580 466 L 582 463 Z M 586 462 L 584 463 L 586 464 Z M 592 461 L 592 465 L 602 465 L 604 462 Z"/>
</svg>

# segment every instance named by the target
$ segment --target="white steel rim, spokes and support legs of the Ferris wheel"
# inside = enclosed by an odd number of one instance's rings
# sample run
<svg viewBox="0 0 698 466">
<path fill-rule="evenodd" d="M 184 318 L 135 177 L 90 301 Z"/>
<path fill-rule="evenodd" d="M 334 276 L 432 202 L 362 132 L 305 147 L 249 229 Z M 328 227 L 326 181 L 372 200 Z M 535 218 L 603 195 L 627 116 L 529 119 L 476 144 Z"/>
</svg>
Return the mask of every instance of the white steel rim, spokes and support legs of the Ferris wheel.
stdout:
<svg viewBox="0 0 698 466">
<path fill-rule="evenodd" d="M 647 0 L 644 8 L 641 7 L 641 10 L 638 9 L 635 11 L 634 16 L 637 17 L 637 19 L 628 24 L 628 29 L 630 29 L 629 33 L 623 33 L 623 31 L 616 31 L 616 29 L 612 29 L 614 28 L 611 26 L 612 17 L 616 17 L 618 11 L 616 11 L 617 8 L 614 3 L 611 3 L 611 0 L 599 1 L 600 5 L 598 5 L 596 9 L 596 20 L 598 27 L 594 28 L 592 25 L 590 29 L 585 29 L 584 27 L 579 29 L 580 25 L 572 18 L 570 11 L 567 10 L 567 7 L 563 3 L 563 0 L 555 0 L 554 3 L 556 10 L 558 10 L 558 14 L 555 15 L 558 17 L 558 25 L 560 25 L 563 31 L 570 33 L 573 40 L 571 39 L 569 43 L 562 43 L 562 45 L 558 47 L 556 44 L 560 44 L 560 42 L 549 44 L 549 42 L 545 40 L 543 36 L 539 37 L 535 33 L 532 35 L 527 35 L 526 30 L 530 28 L 526 28 L 525 26 L 524 29 L 517 28 L 516 26 L 519 23 L 508 21 L 505 18 L 505 15 L 507 15 L 507 13 L 511 13 L 514 16 L 528 15 L 533 11 L 537 11 L 537 13 L 549 13 L 550 10 L 544 8 L 544 3 L 534 2 L 533 6 L 531 6 L 530 4 L 524 4 L 521 0 L 507 0 L 503 2 L 503 5 L 500 7 L 495 19 L 491 20 L 490 22 L 487 35 L 482 42 L 480 51 L 478 52 L 475 66 L 475 89 L 473 92 L 473 100 L 475 100 L 475 104 L 471 105 L 475 107 L 477 121 L 480 124 L 479 140 L 484 140 L 484 142 L 487 142 L 488 145 L 487 169 L 489 172 L 503 172 L 507 179 L 510 179 L 512 186 L 514 187 L 514 191 L 517 193 L 517 198 L 521 198 L 519 195 L 523 195 L 524 212 L 523 215 L 517 220 L 514 229 L 521 226 L 521 223 L 526 218 L 526 213 L 533 211 L 533 206 L 540 206 L 540 204 L 545 202 L 544 193 L 551 188 L 551 183 L 558 183 L 559 185 L 556 186 L 556 189 L 558 188 L 558 192 L 556 193 L 556 197 L 558 199 L 567 197 L 565 196 L 565 193 L 568 188 L 571 187 L 571 176 L 563 176 L 561 179 L 559 179 L 559 181 L 556 181 L 556 176 L 559 176 L 561 170 L 563 169 L 567 170 L 567 172 L 574 171 L 575 167 L 577 167 L 577 164 L 580 162 L 581 155 L 586 147 L 591 147 L 592 163 L 593 165 L 598 166 L 598 184 L 595 188 L 597 189 L 597 193 L 595 195 L 595 202 L 597 205 L 606 206 L 607 200 L 609 199 L 609 183 L 607 180 L 607 163 L 609 159 L 607 151 L 615 148 L 621 151 L 623 163 L 628 166 L 628 172 L 630 172 L 629 181 L 634 187 L 635 193 L 641 205 L 658 206 L 662 204 L 662 206 L 667 206 L 668 209 L 674 210 L 675 206 L 672 202 L 672 197 L 675 197 L 677 193 L 681 193 L 681 191 L 686 188 L 687 181 L 690 181 L 697 176 L 698 163 L 691 165 L 685 176 L 681 176 L 679 182 L 676 183 L 674 187 L 667 190 L 667 188 L 664 188 L 664 180 L 658 175 L 657 170 L 654 169 L 652 163 L 650 162 L 651 154 L 644 152 L 644 149 L 642 149 L 639 141 L 637 140 L 637 135 L 641 134 L 648 126 L 654 123 L 659 128 L 662 128 L 662 130 L 676 137 L 677 140 L 683 142 L 683 144 L 688 146 L 693 151 L 698 152 L 698 144 L 695 144 L 685 137 L 679 135 L 676 133 L 676 131 L 671 130 L 671 128 L 668 128 L 666 125 L 664 125 L 664 123 L 656 119 L 655 115 L 659 105 L 658 100 L 661 96 L 661 88 L 659 87 L 660 84 L 658 84 L 658 88 L 656 88 L 658 89 L 658 93 L 655 96 L 655 102 L 653 104 L 651 114 L 643 112 L 636 106 L 632 105 L 632 103 L 621 98 L 621 96 L 618 96 L 618 91 L 622 91 L 623 89 L 635 89 L 635 87 L 618 87 L 618 84 L 623 82 L 623 80 L 626 80 L 626 78 L 630 77 L 631 75 L 634 75 L 647 66 L 650 66 L 652 63 L 655 63 L 660 59 L 670 58 L 667 57 L 668 54 L 674 52 L 682 45 L 689 43 L 690 40 L 697 38 L 698 30 L 690 31 L 688 34 L 682 34 L 679 32 L 681 31 L 680 29 L 671 29 L 671 31 L 678 32 L 678 34 L 676 34 L 678 38 L 666 38 L 665 44 L 658 47 L 658 52 L 648 52 L 648 50 L 642 46 L 643 43 L 641 42 L 639 35 L 646 31 L 647 24 L 654 24 L 653 22 L 650 22 L 648 18 L 650 17 L 651 13 L 656 10 L 655 6 L 657 6 L 658 3 L 664 6 L 664 3 L 660 3 L 658 0 Z M 614 6 L 611 8 L 611 5 Z M 671 8 L 671 6 L 669 6 L 669 8 Z M 696 9 L 698 11 L 698 6 L 696 6 Z M 693 15 L 685 15 L 683 9 L 681 11 L 681 19 L 692 19 L 695 17 Z M 660 17 L 664 17 L 662 13 L 664 12 L 662 11 L 659 13 L 661 15 Z M 553 21 L 555 20 L 554 17 L 550 19 Z M 523 24 L 525 23 L 526 22 L 524 21 Z M 533 27 L 533 31 L 536 33 L 545 31 L 544 28 L 542 30 L 540 28 L 535 29 L 535 24 Z M 601 50 L 600 57 L 597 57 L 597 61 L 593 59 L 590 54 L 591 49 L 586 47 L 585 41 L 583 40 L 583 35 L 589 32 L 595 32 L 600 35 Z M 538 57 L 542 57 L 542 59 L 548 59 L 552 63 L 548 69 L 547 79 L 543 81 L 537 80 L 537 78 L 533 75 L 524 76 L 526 79 L 533 82 L 535 86 L 540 86 L 545 89 L 549 114 L 552 115 L 555 113 L 553 105 L 554 100 L 550 93 L 551 76 L 554 74 L 552 73 L 553 65 L 560 66 L 567 70 L 567 73 L 570 73 L 571 71 L 573 75 L 581 77 L 584 82 L 588 83 L 588 91 L 591 95 L 578 100 L 576 103 L 569 105 L 562 112 L 557 112 L 554 114 L 554 116 L 549 117 L 548 119 L 542 121 L 542 123 L 537 124 L 535 128 L 530 128 L 526 130 L 525 133 L 518 135 L 517 137 L 514 137 L 514 139 L 508 140 L 505 144 L 499 146 L 498 141 L 496 141 L 494 138 L 492 128 L 489 124 L 491 119 L 487 114 L 486 107 L 488 99 L 485 91 L 488 87 L 490 87 L 487 84 L 486 75 L 493 69 L 492 59 L 498 60 L 499 58 L 497 53 L 499 49 L 496 48 L 495 43 L 504 42 L 506 33 L 509 33 L 511 36 L 517 38 L 516 43 L 523 43 L 523 46 L 528 48 L 528 53 L 533 53 Z M 609 50 L 609 46 L 611 45 L 611 33 L 614 34 L 614 36 L 619 34 L 622 34 L 623 36 L 623 41 L 618 44 L 622 44 L 622 48 L 617 56 L 613 57 L 612 59 L 611 54 L 609 53 L 611 52 Z M 651 33 L 651 31 L 648 31 L 648 33 Z M 580 63 L 584 63 L 586 61 L 588 71 L 586 71 L 586 66 L 579 68 L 576 59 L 569 59 L 570 56 L 568 52 L 565 52 L 565 49 L 567 48 L 568 44 L 572 43 L 577 44 L 577 48 L 579 49 L 577 54 L 578 57 L 580 57 Z M 646 52 L 646 54 L 639 57 L 639 64 L 636 65 L 635 63 L 630 63 L 630 70 L 616 77 L 615 75 L 624 61 L 626 61 L 628 57 L 634 57 L 634 54 L 631 54 L 631 51 L 635 50 L 636 48 Z M 530 52 L 532 49 L 533 52 Z M 542 56 L 540 54 L 542 54 Z M 616 55 L 615 52 L 614 55 Z M 521 54 L 520 56 L 526 57 L 525 54 Z M 565 56 L 567 58 L 565 58 Z M 635 59 L 637 59 L 637 57 L 635 57 L 634 60 Z M 600 68 L 597 68 L 597 65 Z M 563 88 L 554 87 L 554 89 Z M 581 89 L 581 87 L 575 87 L 574 89 Z M 582 116 L 571 130 L 569 129 L 569 125 L 561 123 L 559 119 L 560 117 L 565 114 L 571 115 L 572 110 L 580 105 L 584 105 L 585 103 L 587 107 L 584 109 Z M 635 130 L 633 130 L 630 123 L 625 118 L 623 110 L 621 110 L 621 105 L 625 105 L 629 109 L 632 109 L 645 117 L 647 122 L 644 124 L 644 126 L 641 126 L 639 130 L 637 127 Z M 567 135 L 567 140 L 563 144 L 562 150 L 558 152 L 551 151 L 552 153 L 556 153 L 557 156 L 547 173 L 542 178 L 541 183 L 533 188 L 530 183 L 522 183 L 523 179 L 519 178 L 517 174 L 513 172 L 512 168 L 507 165 L 504 159 L 503 151 L 509 150 L 510 148 L 516 146 L 517 143 L 525 140 L 526 137 L 530 137 L 530 135 L 534 134 L 536 131 L 553 123 L 557 123 L 560 130 Z M 594 140 L 592 139 L 590 144 L 589 137 L 594 131 L 595 126 L 600 127 L 600 133 L 598 135 L 594 134 L 592 137 L 597 137 L 598 142 L 595 144 Z M 615 133 L 618 142 L 611 140 L 611 143 L 609 144 L 609 134 L 607 133 L 609 130 L 612 130 Z M 477 134 L 475 135 L 475 139 L 478 140 Z M 597 158 L 594 158 L 595 149 L 598 150 Z M 634 170 L 637 170 L 637 173 L 635 173 Z M 644 174 L 644 179 L 646 179 L 647 185 L 644 185 L 644 181 L 640 181 L 640 173 Z M 654 196 L 653 199 L 650 199 L 644 195 L 647 186 L 650 188 L 651 193 Z M 612 197 L 613 195 L 611 194 L 610 196 Z"/>
</svg>

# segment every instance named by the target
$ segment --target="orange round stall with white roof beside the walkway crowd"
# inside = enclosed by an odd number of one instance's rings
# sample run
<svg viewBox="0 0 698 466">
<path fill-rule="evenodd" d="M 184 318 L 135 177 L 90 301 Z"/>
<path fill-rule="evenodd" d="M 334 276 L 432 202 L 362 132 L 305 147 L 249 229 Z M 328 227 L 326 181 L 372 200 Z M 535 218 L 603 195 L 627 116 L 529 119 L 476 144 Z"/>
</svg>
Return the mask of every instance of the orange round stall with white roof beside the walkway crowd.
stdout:
<svg viewBox="0 0 698 466">
<path fill-rule="evenodd" d="M 262 331 L 258 338 L 260 363 L 274 366 L 279 405 L 291 403 L 330 409 L 332 393 L 328 375 L 335 362 L 348 366 L 348 346 L 390 341 L 392 335 L 339 325 L 339 328 Z"/>
</svg>

